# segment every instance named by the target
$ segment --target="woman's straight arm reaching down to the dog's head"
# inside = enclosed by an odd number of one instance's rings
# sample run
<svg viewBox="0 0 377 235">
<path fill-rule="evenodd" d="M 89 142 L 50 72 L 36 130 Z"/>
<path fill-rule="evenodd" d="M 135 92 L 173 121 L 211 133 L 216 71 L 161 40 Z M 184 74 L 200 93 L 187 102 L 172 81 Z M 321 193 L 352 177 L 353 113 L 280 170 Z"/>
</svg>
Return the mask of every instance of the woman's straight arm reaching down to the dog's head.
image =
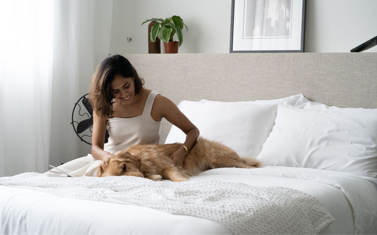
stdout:
<svg viewBox="0 0 377 235">
<path fill-rule="evenodd" d="M 113 155 L 103 150 L 105 143 L 107 120 L 103 120 L 93 111 L 93 133 L 92 133 L 92 156 L 95 160 L 103 160 L 102 167 L 109 166 L 110 157 Z"/>
</svg>

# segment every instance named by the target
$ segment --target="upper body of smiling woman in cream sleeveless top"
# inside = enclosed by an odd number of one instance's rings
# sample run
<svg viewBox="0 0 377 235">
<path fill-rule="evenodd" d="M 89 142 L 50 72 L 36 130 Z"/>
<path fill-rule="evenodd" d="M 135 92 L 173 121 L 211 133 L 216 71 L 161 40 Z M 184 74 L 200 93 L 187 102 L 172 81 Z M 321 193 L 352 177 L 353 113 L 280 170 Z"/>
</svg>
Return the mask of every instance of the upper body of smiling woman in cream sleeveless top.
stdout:
<svg viewBox="0 0 377 235">
<path fill-rule="evenodd" d="M 168 98 L 143 88 L 131 63 L 121 55 L 105 58 L 90 80 L 93 107 L 92 156 L 106 168 L 116 151 L 135 144 L 159 144 L 162 118 L 181 129 L 186 140 L 170 157 L 181 167 L 196 143 L 199 130 Z M 109 142 L 104 144 L 106 125 Z"/>
</svg>

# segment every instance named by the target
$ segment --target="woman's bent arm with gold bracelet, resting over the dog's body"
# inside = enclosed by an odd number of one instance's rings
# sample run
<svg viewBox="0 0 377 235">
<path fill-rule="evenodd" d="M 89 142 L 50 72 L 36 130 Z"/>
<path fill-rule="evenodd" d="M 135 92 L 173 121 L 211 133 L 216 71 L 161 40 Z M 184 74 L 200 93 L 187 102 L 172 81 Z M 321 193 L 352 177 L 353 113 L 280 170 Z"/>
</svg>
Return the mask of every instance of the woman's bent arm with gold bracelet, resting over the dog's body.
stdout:
<svg viewBox="0 0 377 235">
<path fill-rule="evenodd" d="M 181 129 L 186 134 L 186 140 L 183 143 L 187 147 L 187 150 L 194 146 L 196 140 L 199 138 L 198 128 L 192 124 L 192 122 L 178 109 L 178 107 L 168 98 L 157 95 L 155 102 L 153 103 L 152 117 L 164 117 L 174 126 Z M 184 147 L 179 147 L 176 152 L 170 156 L 176 166 L 180 167 L 183 164 L 184 157 L 186 155 L 186 150 Z"/>
</svg>

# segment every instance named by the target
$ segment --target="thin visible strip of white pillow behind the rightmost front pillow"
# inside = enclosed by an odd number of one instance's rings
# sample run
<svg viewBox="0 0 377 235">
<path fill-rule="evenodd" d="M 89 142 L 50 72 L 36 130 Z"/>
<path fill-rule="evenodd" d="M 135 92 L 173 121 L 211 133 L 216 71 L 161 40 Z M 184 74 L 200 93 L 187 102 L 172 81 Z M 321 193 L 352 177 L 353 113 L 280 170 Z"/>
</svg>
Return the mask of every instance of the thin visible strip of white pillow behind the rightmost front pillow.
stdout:
<svg viewBox="0 0 377 235">
<path fill-rule="evenodd" d="M 336 106 L 328 106 L 322 103 L 310 102 L 308 100 L 298 100 L 297 108 L 316 110 L 324 112 L 339 112 L 345 114 L 362 114 L 362 115 L 377 115 L 377 109 L 363 109 L 363 108 L 339 108 Z"/>
</svg>

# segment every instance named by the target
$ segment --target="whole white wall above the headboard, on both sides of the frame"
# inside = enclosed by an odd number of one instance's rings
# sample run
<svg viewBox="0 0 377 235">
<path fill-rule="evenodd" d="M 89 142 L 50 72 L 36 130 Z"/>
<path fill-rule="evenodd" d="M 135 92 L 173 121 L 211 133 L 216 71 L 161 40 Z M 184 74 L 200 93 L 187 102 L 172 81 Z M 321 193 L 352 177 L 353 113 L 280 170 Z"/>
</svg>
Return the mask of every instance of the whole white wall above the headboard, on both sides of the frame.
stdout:
<svg viewBox="0 0 377 235">
<path fill-rule="evenodd" d="M 376 9 L 377 0 L 307 0 L 305 52 L 349 52 L 375 37 Z M 179 53 L 228 53 L 230 14 L 231 0 L 114 0 L 110 53 L 148 53 L 148 26 L 141 23 L 172 15 L 189 28 Z"/>
</svg>

